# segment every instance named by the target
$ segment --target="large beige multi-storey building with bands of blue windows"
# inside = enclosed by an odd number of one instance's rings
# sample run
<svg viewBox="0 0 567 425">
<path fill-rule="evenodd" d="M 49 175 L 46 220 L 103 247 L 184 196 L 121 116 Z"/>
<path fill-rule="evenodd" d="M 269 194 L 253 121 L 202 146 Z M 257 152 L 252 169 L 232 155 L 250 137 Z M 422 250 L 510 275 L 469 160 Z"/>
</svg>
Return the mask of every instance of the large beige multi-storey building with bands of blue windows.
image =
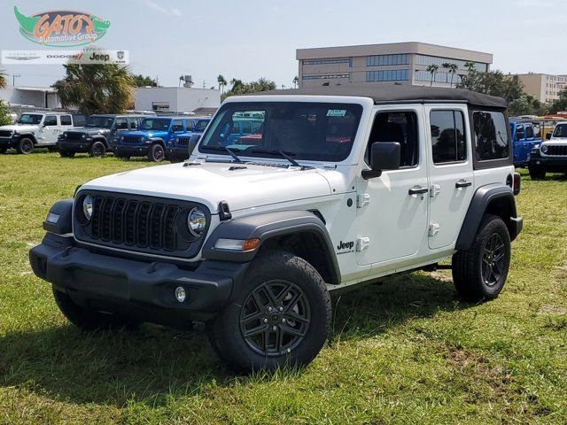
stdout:
<svg viewBox="0 0 567 425">
<path fill-rule="evenodd" d="M 493 55 L 425 42 L 396 42 L 296 50 L 299 87 L 342 84 L 412 84 L 450 87 L 467 73 L 467 62 L 488 71 Z M 455 73 L 444 64 L 458 66 Z M 431 75 L 430 65 L 439 69 Z"/>
</svg>

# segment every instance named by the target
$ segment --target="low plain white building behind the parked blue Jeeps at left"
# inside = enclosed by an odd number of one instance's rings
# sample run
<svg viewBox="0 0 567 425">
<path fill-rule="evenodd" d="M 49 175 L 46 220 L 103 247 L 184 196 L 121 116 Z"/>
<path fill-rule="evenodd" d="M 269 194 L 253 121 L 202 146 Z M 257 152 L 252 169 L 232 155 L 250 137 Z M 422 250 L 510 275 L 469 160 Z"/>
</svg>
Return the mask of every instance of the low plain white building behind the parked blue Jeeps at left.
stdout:
<svg viewBox="0 0 567 425">
<path fill-rule="evenodd" d="M 169 110 L 192 112 L 201 107 L 218 108 L 221 92 L 216 89 L 187 89 L 176 87 L 140 87 L 135 94 L 136 111 L 151 111 L 154 102 L 167 102 Z"/>
</svg>

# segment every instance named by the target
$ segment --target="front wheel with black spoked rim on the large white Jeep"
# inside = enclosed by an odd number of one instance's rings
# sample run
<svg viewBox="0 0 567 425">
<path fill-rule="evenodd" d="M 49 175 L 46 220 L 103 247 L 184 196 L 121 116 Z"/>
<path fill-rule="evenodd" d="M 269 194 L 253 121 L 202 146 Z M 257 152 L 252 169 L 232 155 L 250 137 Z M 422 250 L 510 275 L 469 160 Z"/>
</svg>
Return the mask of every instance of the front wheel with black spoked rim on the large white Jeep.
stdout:
<svg viewBox="0 0 567 425">
<path fill-rule="evenodd" d="M 237 295 L 210 323 L 219 357 L 239 372 L 302 367 L 321 351 L 330 296 L 304 259 L 272 251 L 254 259 Z"/>
</svg>

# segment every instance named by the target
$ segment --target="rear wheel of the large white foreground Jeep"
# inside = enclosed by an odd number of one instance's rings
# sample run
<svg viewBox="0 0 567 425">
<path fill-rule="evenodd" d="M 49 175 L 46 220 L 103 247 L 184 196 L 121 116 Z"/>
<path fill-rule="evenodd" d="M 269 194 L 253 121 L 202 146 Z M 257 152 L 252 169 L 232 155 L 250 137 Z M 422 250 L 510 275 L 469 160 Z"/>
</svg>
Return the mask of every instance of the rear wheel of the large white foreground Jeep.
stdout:
<svg viewBox="0 0 567 425">
<path fill-rule="evenodd" d="M 498 297 L 510 264 L 510 236 L 506 223 L 486 214 L 470 249 L 453 256 L 453 281 L 459 296 L 478 302 Z"/>
</svg>

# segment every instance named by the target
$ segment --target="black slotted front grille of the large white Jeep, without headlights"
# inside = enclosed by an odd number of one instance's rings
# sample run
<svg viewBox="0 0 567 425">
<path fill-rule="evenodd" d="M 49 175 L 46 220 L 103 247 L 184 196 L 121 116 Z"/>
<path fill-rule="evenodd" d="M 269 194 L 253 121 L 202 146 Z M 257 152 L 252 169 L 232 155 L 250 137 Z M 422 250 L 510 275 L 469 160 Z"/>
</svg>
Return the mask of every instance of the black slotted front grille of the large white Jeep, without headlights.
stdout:
<svg viewBox="0 0 567 425">
<path fill-rule="evenodd" d="M 80 220 L 84 194 L 75 205 L 74 236 L 82 242 L 149 252 L 168 256 L 193 257 L 203 243 L 187 230 L 187 214 L 194 206 L 189 202 L 133 195 L 97 192 L 93 197 L 92 218 Z M 210 220 L 207 220 L 209 222 Z"/>
</svg>

